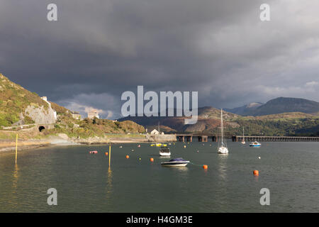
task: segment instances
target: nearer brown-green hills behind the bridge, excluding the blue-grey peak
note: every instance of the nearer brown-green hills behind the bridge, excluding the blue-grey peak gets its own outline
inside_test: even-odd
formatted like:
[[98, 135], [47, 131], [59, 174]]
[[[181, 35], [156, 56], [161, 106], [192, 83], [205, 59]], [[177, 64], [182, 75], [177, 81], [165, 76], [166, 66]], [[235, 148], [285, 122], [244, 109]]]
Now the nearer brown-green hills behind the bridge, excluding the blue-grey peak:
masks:
[[[246, 135], [319, 135], [319, 116], [292, 112], [265, 116], [240, 116], [223, 111], [226, 135], [241, 135], [245, 127]], [[128, 117], [122, 120], [136, 121], [148, 131], [158, 128], [166, 133], [210, 132], [219, 133], [220, 110], [213, 107], [198, 109], [198, 121], [194, 125], [184, 125], [184, 117]]]

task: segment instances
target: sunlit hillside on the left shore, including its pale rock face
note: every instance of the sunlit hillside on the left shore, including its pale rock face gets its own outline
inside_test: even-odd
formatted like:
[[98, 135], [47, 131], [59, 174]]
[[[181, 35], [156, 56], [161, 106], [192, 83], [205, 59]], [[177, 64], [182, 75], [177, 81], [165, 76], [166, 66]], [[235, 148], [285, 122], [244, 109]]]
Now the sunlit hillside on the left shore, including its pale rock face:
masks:
[[[29, 92], [18, 84], [11, 82], [0, 74], [0, 127], [28, 125], [25, 128], [35, 127], [36, 124], [50, 124], [39, 132], [21, 133], [22, 138], [29, 139], [36, 136], [65, 133], [69, 138], [104, 137], [106, 133], [144, 133], [145, 128], [133, 121], [111, 121], [107, 119], [78, 120], [72, 118], [71, 111], [51, 101], [45, 101], [34, 92]], [[9, 131], [21, 128], [11, 127]], [[24, 130], [24, 129], [23, 129]], [[2, 138], [9, 137], [7, 131], [1, 131]], [[22, 131], [21, 131], [22, 132]], [[0, 138], [1, 138], [0, 136]]]

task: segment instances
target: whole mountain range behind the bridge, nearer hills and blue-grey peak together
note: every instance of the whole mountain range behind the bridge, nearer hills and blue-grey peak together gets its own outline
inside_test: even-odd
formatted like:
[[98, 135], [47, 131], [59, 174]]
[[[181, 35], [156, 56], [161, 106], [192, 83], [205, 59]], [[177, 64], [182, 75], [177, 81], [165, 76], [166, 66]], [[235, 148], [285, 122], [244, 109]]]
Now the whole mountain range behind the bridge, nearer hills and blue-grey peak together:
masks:
[[[223, 116], [228, 135], [241, 134], [245, 126], [247, 135], [319, 135], [319, 103], [307, 99], [279, 97], [247, 104], [234, 109], [225, 109]], [[211, 106], [198, 108], [198, 121], [184, 125], [186, 117], [136, 117], [128, 116], [118, 121], [135, 121], [152, 131], [160, 124], [161, 131], [212, 132], [218, 133], [220, 109]]]

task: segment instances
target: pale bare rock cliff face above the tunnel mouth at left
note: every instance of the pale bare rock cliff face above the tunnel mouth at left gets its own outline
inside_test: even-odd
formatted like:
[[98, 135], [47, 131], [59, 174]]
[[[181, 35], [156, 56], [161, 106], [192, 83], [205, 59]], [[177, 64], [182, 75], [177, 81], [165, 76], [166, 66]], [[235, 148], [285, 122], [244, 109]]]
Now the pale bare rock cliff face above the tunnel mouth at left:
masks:
[[32, 118], [35, 123], [50, 124], [55, 123], [57, 120], [55, 117], [55, 111], [51, 108], [51, 106], [48, 106], [46, 109], [44, 106], [27, 106], [25, 115]]

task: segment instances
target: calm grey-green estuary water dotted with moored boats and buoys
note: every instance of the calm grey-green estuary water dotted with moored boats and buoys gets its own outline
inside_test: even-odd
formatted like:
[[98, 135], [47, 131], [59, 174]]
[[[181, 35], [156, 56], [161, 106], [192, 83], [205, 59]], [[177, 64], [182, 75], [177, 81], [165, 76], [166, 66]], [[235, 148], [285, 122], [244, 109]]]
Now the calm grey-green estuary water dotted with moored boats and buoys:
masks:
[[[172, 158], [194, 163], [186, 167], [162, 167], [169, 158], [140, 145], [112, 145], [110, 168], [106, 145], [21, 151], [18, 165], [14, 152], [2, 153], [0, 211], [319, 212], [319, 143], [228, 142], [228, 155], [218, 155], [216, 143], [172, 143]], [[47, 204], [50, 188], [57, 189], [57, 206]], [[269, 206], [260, 204], [262, 188], [269, 189]]]

